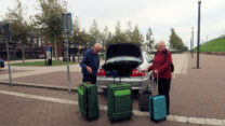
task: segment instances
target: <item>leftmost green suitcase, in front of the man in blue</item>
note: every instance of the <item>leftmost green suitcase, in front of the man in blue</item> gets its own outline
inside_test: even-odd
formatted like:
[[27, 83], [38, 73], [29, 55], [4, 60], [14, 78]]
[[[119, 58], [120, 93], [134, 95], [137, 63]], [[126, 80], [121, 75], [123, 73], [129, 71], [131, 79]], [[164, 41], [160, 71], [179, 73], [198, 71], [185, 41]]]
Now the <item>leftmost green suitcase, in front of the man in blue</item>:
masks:
[[78, 101], [80, 112], [88, 121], [98, 118], [100, 109], [96, 85], [89, 82], [80, 84], [78, 87]]

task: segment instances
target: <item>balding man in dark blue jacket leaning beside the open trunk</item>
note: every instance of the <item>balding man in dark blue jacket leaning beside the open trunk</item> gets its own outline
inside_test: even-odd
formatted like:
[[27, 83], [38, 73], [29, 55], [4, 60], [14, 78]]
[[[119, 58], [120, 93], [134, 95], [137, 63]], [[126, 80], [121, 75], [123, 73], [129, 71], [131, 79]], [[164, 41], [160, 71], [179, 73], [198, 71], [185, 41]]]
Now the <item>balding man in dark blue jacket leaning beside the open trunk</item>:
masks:
[[96, 84], [97, 69], [100, 67], [98, 52], [102, 50], [102, 44], [96, 43], [92, 48], [87, 50], [83, 54], [83, 59], [80, 62], [83, 82]]

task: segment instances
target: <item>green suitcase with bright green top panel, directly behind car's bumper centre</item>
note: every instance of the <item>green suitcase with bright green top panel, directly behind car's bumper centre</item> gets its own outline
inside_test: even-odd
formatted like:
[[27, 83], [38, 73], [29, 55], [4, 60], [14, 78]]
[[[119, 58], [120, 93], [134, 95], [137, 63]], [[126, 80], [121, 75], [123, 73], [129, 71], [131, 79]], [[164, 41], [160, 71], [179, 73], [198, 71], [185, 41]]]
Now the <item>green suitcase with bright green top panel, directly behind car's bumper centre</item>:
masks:
[[132, 92], [131, 85], [127, 83], [110, 84], [107, 86], [108, 118], [131, 118], [132, 116]]

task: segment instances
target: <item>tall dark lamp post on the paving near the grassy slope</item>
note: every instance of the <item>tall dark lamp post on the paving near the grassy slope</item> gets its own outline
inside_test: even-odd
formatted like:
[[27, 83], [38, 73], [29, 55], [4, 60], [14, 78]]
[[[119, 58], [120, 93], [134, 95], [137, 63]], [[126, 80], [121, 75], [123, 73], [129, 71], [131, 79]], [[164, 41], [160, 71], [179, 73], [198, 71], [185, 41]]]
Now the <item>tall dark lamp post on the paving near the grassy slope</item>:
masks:
[[199, 69], [199, 43], [200, 43], [200, 17], [201, 0], [198, 1], [198, 45], [197, 45], [197, 69]]

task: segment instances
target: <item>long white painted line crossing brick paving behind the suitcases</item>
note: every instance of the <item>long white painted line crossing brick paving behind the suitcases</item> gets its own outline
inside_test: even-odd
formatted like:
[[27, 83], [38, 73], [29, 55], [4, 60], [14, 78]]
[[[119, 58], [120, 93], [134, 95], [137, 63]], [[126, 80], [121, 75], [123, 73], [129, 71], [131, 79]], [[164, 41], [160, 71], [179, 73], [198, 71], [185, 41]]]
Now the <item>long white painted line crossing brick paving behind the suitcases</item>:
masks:
[[[30, 94], [23, 94], [23, 93], [16, 93], [16, 92], [8, 92], [8, 90], [0, 90], [0, 94], [64, 103], [64, 104], [78, 106], [78, 101], [65, 100], [65, 99], [58, 99], [58, 98], [52, 98], [52, 97], [45, 97], [45, 96], [38, 96], [38, 95], [30, 95]], [[107, 106], [100, 104], [100, 109], [107, 111]], [[141, 112], [138, 110], [133, 110], [133, 114], [137, 116], [149, 116], [148, 112]], [[225, 120], [216, 120], [216, 118], [169, 115], [167, 116], [167, 121], [178, 122], [178, 123], [201, 124], [201, 125], [225, 126]]]

